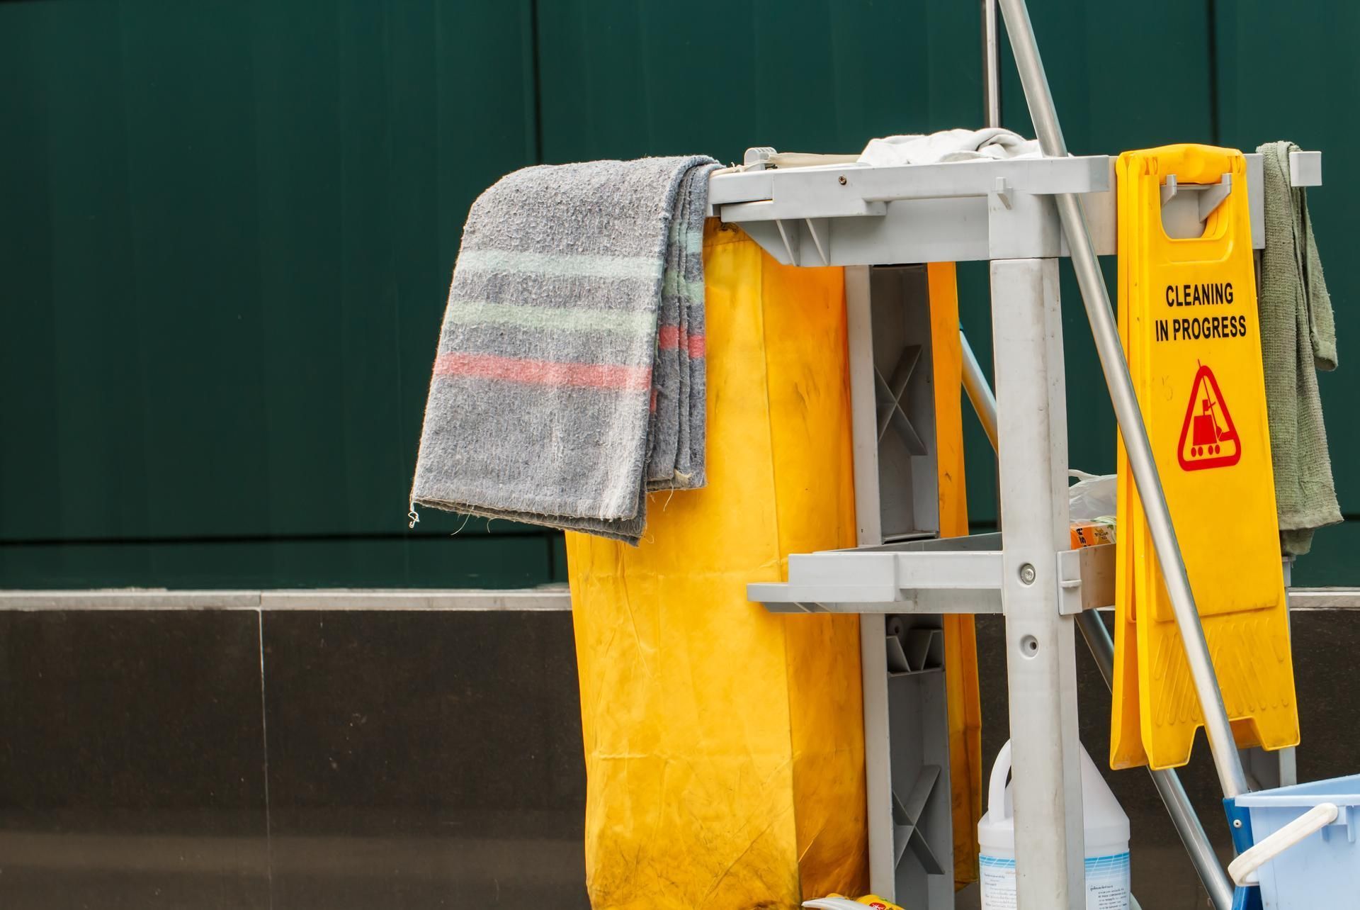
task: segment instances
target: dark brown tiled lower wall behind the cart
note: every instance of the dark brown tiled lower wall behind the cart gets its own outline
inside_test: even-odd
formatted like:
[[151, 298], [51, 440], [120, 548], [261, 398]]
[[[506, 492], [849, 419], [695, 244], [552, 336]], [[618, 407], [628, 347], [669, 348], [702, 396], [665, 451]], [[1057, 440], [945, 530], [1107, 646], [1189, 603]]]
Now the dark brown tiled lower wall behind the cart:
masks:
[[[1360, 615], [1293, 622], [1300, 775], [1352, 771]], [[1000, 620], [979, 653], [990, 759]], [[1108, 695], [1078, 673], [1100, 763]], [[5, 910], [588, 906], [564, 612], [0, 612], [0, 729]], [[1144, 906], [1202, 907], [1146, 774], [1108, 779]], [[1227, 849], [1202, 748], [1185, 781]]]

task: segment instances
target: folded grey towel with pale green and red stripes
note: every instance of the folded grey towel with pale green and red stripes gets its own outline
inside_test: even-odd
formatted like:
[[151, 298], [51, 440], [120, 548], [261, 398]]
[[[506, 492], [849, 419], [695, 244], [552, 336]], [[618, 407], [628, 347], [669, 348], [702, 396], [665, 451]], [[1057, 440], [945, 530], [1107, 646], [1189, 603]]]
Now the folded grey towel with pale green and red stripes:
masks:
[[638, 543], [703, 486], [711, 158], [528, 167], [472, 205], [426, 400], [416, 506]]

